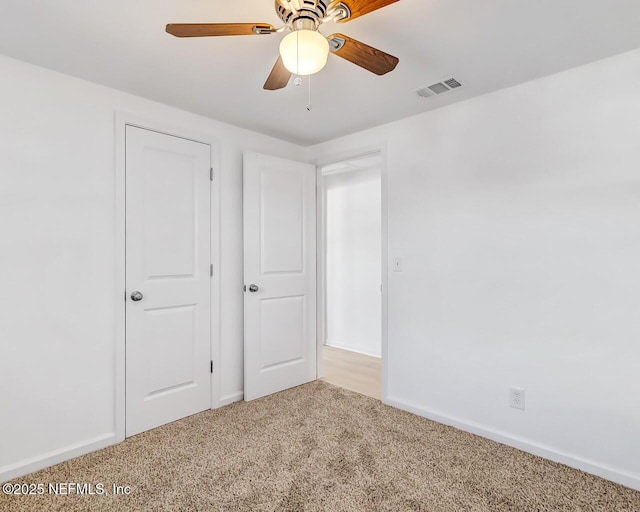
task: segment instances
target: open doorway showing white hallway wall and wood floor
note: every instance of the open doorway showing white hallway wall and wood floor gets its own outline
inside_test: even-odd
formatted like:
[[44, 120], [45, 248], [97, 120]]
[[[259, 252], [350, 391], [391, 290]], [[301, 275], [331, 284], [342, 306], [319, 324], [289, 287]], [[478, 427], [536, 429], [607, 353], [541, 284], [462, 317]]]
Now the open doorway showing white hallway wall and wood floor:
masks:
[[382, 157], [319, 169], [321, 379], [381, 398]]

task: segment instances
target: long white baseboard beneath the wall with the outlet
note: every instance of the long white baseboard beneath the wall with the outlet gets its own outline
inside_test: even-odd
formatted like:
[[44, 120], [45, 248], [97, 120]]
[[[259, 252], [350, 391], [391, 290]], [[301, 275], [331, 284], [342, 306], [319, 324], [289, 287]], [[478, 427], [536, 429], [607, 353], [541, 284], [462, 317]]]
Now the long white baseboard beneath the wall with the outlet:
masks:
[[445, 425], [455, 427], [459, 430], [464, 430], [465, 432], [470, 432], [471, 434], [476, 434], [478, 436], [491, 439], [492, 441], [517, 448], [518, 450], [522, 450], [524, 452], [528, 452], [533, 455], [537, 455], [539, 457], [543, 457], [545, 459], [549, 459], [554, 462], [579, 469], [581, 471], [584, 471], [585, 473], [591, 473], [592, 475], [599, 476], [601, 478], [604, 478], [605, 480], [611, 480], [612, 482], [630, 487], [631, 489], [635, 489], [636, 491], [640, 491], [640, 475], [634, 475], [632, 473], [627, 473], [625, 471], [621, 471], [599, 464], [597, 462], [576, 457], [568, 453], [563, 453], [554, 448], [530, 441], [528, 439], [522, 439], [506, 432], [501, 432], [499, 430], [486, 427], [479, 423], [467, 421], [462, 418], [449, 416], [438, 411], [416, 406], [397, 398], [390, 397], [385, 401], [385, 403], [392, 407], [411, 412], [413, 414], [436, 421], [438, 423], [443, 423]]

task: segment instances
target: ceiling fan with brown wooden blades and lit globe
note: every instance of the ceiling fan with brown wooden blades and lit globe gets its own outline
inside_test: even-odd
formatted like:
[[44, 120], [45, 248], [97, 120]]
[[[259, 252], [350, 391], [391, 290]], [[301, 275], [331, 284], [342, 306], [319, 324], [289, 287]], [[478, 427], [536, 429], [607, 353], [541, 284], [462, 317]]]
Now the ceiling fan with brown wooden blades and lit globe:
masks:
[[269, 23], [170, 23], [167, 32], [176, 37], [251, 36], [289, 31], [280, 42], [278, 58], [264, 88], [282, 89], [292, 74], [312, 75], [324, 68], [329, 53], [384, 75], [393, 71], [398, 59], [344, 34], [323, 36], [318, 28], [334, 21], [346, 23], [386, 7], [398, 0], [275, 0], [284, 26]]

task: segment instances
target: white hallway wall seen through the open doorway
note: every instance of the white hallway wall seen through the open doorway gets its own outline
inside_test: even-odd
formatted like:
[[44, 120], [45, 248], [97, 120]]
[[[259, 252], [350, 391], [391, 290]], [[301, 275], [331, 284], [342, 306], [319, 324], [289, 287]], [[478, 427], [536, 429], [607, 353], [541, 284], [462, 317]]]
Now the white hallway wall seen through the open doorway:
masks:
[[380, 168], [328, 174], [326, 344], [380, 357]]

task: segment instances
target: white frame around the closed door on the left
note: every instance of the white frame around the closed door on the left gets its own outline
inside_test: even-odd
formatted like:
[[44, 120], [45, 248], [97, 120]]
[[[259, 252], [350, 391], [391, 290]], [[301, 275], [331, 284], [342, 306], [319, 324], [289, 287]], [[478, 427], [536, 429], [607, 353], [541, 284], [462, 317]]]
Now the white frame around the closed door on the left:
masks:
[[116, 442], [125, 439], [125, 363], [126, 363], [126, 302], [125, 302], [125, 270], [126, 270], [126, 126], [135, 126], [182, 139], [208, 144], [211, 148], [211, 359], [214, 368], [211, 378], [211, 408], [220, 406], [220, 148], [219, 143], [210, 135], [194, 133], [189, 128], [167, 124], [163, 121], [147, 119], [130, 112], [115, 112], [115, 247], [116, 247], [116, 281], [114, 297], [116, 304], [115, 332], [115, 418], [114, 426]]

